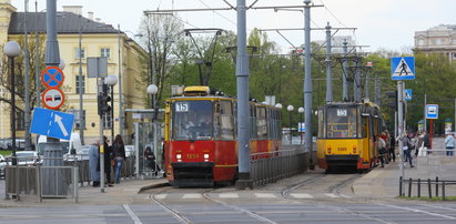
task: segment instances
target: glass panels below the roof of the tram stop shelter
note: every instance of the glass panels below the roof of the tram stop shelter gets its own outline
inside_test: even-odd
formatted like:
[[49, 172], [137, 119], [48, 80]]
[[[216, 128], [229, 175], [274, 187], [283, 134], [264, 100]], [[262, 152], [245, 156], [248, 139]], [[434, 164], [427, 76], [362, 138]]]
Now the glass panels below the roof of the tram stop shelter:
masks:
[[[135, 122], [134, 123], [134, 152], [136, 157], [136, 176], [156, 176], [156, 170], [163, 167], [163, 135], [162, 125], [158, 122]], [[155, 155], [155, 163], [145, 160], [146, 150], [150, 149]]]

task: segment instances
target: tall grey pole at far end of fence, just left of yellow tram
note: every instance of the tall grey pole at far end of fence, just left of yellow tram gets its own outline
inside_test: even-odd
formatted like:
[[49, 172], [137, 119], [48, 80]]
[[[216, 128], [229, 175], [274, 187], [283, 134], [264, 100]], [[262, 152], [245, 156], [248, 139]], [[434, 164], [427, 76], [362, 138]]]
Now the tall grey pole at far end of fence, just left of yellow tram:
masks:
[[311, 75], [311, 0], [304, 0], [304, 113], [305, 134], [304, 149], [311, 153], [311, 169], [313, 169], [312, 152], [312, 75]]

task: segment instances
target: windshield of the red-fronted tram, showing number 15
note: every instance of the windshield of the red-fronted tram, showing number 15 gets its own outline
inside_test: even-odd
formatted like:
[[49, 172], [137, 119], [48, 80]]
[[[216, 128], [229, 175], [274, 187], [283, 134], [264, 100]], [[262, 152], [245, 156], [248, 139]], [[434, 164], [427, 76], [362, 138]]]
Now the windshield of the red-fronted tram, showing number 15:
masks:
[[210, 140], [213, 136], [213, 103], [209, 100], [173, 103], [174, 140]]

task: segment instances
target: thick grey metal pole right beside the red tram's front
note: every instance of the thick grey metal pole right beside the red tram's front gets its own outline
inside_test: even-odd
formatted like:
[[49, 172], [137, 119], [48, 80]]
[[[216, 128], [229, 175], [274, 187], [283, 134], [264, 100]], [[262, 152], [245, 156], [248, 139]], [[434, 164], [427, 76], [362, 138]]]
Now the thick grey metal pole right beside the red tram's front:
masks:
[[249, 133], [249, 60], [246, 52], [246, 7], [245, 0], [237, 0], [237, 151], [239, 151], [239, 180], [236, 189], [253, 189], [250, 162], [250, 133]]

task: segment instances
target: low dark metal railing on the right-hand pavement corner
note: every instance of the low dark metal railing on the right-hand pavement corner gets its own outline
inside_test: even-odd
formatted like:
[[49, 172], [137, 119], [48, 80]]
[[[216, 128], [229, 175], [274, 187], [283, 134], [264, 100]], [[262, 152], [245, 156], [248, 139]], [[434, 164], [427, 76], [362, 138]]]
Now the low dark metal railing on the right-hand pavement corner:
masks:
[[[446, 186], [447, 185], [456, 185], [456, 181], [448, 181], [448, 180], [438, 180], [438, 177], [436, 177], [435, 180], [420, 180], [420, 179], [408, 179], [408, 180], [403, 180], [402, 177], [399, 177], [399, 195], [404, 196], [405, 195], [405, 190], [403, 187], [403, 185], [408, 184], [408, 197], [412, 197], [412, 189], [413, 185], [416, 185], [416, 196], [417, 197], [422, 197], [422, 185], [426, 185], [427, 186], [427, 195], [429, 198], [433, 197], [433, 189], [435, 189], [435, 196], [438, 197], [438, 189], [439, 185], [442, 186], [442, 201], [445, 201], [446, 195]], [[434, 186], [434, 187], [433, 187]]]

